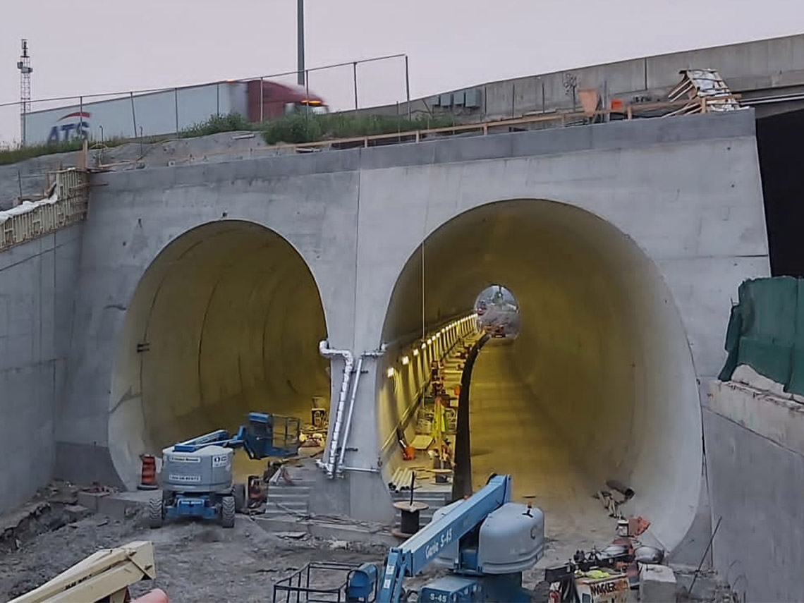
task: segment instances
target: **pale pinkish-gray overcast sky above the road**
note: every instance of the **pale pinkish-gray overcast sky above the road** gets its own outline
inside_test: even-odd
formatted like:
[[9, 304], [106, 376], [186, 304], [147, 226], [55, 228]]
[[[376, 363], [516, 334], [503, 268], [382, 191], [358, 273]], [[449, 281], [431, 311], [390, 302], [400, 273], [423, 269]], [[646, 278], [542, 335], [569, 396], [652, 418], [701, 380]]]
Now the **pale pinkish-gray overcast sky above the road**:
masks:
[[[405, 53], [413, 97], [802, 32], [804, 0], [306, 0], [308, 67]], [[34, 98], [269, 75], [296, 67], [296, 0], [0, 0], [0, 103], [23, 37]], [[361, 104], [404, 100], [403, 65], [361, 68]], [[351, 68], [310, 85], [337, 105]], [[0, 108], [0, 142], [17, 137]]]

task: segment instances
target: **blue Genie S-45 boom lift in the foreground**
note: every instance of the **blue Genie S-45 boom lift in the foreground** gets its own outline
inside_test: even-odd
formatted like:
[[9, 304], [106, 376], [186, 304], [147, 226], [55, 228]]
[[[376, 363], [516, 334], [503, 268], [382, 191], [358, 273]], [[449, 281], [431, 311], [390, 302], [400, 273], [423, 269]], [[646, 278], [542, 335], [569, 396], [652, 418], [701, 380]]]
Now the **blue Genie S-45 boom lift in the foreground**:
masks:
[[[382, 567], [351, 568], [345, 600], [409, 601], [414, 593], [404, 589], [404, 579], [432, 563], [450, 568], [451, 573], [422, 586], [417, 601], [530, 601], [522, 572], [533, 568], [543, 554], [544, 514], [536, 507], [511, 503], [511, 476], [492, 475], [470, 498], [438, 509], [432, 522], [391, 548]], [[301, 586], [304, 573], [309, 578], [309, 569], [302, 568], [277, 581], [273, 600], [311, 600], [311, 594], [326, 592]]]

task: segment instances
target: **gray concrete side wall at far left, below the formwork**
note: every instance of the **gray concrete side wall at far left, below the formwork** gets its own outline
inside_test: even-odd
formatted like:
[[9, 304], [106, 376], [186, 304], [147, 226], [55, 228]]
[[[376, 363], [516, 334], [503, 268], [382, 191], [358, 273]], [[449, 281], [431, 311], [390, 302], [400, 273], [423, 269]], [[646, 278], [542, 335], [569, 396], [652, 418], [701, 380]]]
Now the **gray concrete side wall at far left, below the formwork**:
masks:
[[0, 253], [0, 512], [53, 474], [82, 228]]

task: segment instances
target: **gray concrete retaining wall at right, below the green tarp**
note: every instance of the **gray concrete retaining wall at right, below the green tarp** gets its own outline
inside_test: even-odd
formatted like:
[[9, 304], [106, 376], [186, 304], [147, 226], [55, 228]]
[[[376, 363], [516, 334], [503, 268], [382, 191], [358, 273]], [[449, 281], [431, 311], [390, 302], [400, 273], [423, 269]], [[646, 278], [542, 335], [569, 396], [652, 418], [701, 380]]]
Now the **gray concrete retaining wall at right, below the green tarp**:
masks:
[[704, 438], [714, 567], [740, 600], [804, 601], [804, 407], [713, 382]]

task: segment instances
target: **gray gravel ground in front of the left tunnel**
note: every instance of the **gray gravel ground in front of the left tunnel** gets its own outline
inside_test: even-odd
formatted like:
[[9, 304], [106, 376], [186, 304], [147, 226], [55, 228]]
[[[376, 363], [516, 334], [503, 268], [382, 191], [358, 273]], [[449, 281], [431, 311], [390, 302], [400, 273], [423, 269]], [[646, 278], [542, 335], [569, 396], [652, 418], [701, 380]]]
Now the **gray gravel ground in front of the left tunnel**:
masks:
[[0, 601], [35, 589], [100, 548], [138, 539], [154, 543], [157, 577], [138, 584], [133, 594], [160, 588], [170, 601], [269, 601], [274, 582], [310, 560], [354, 564], [382, 560], [385, 552], [371, 545], [285, 539], [245, 517], [231, 530], [195, 522], [150, 530], [142, 516], [118, 521], [92, 515], [0, 554]]

